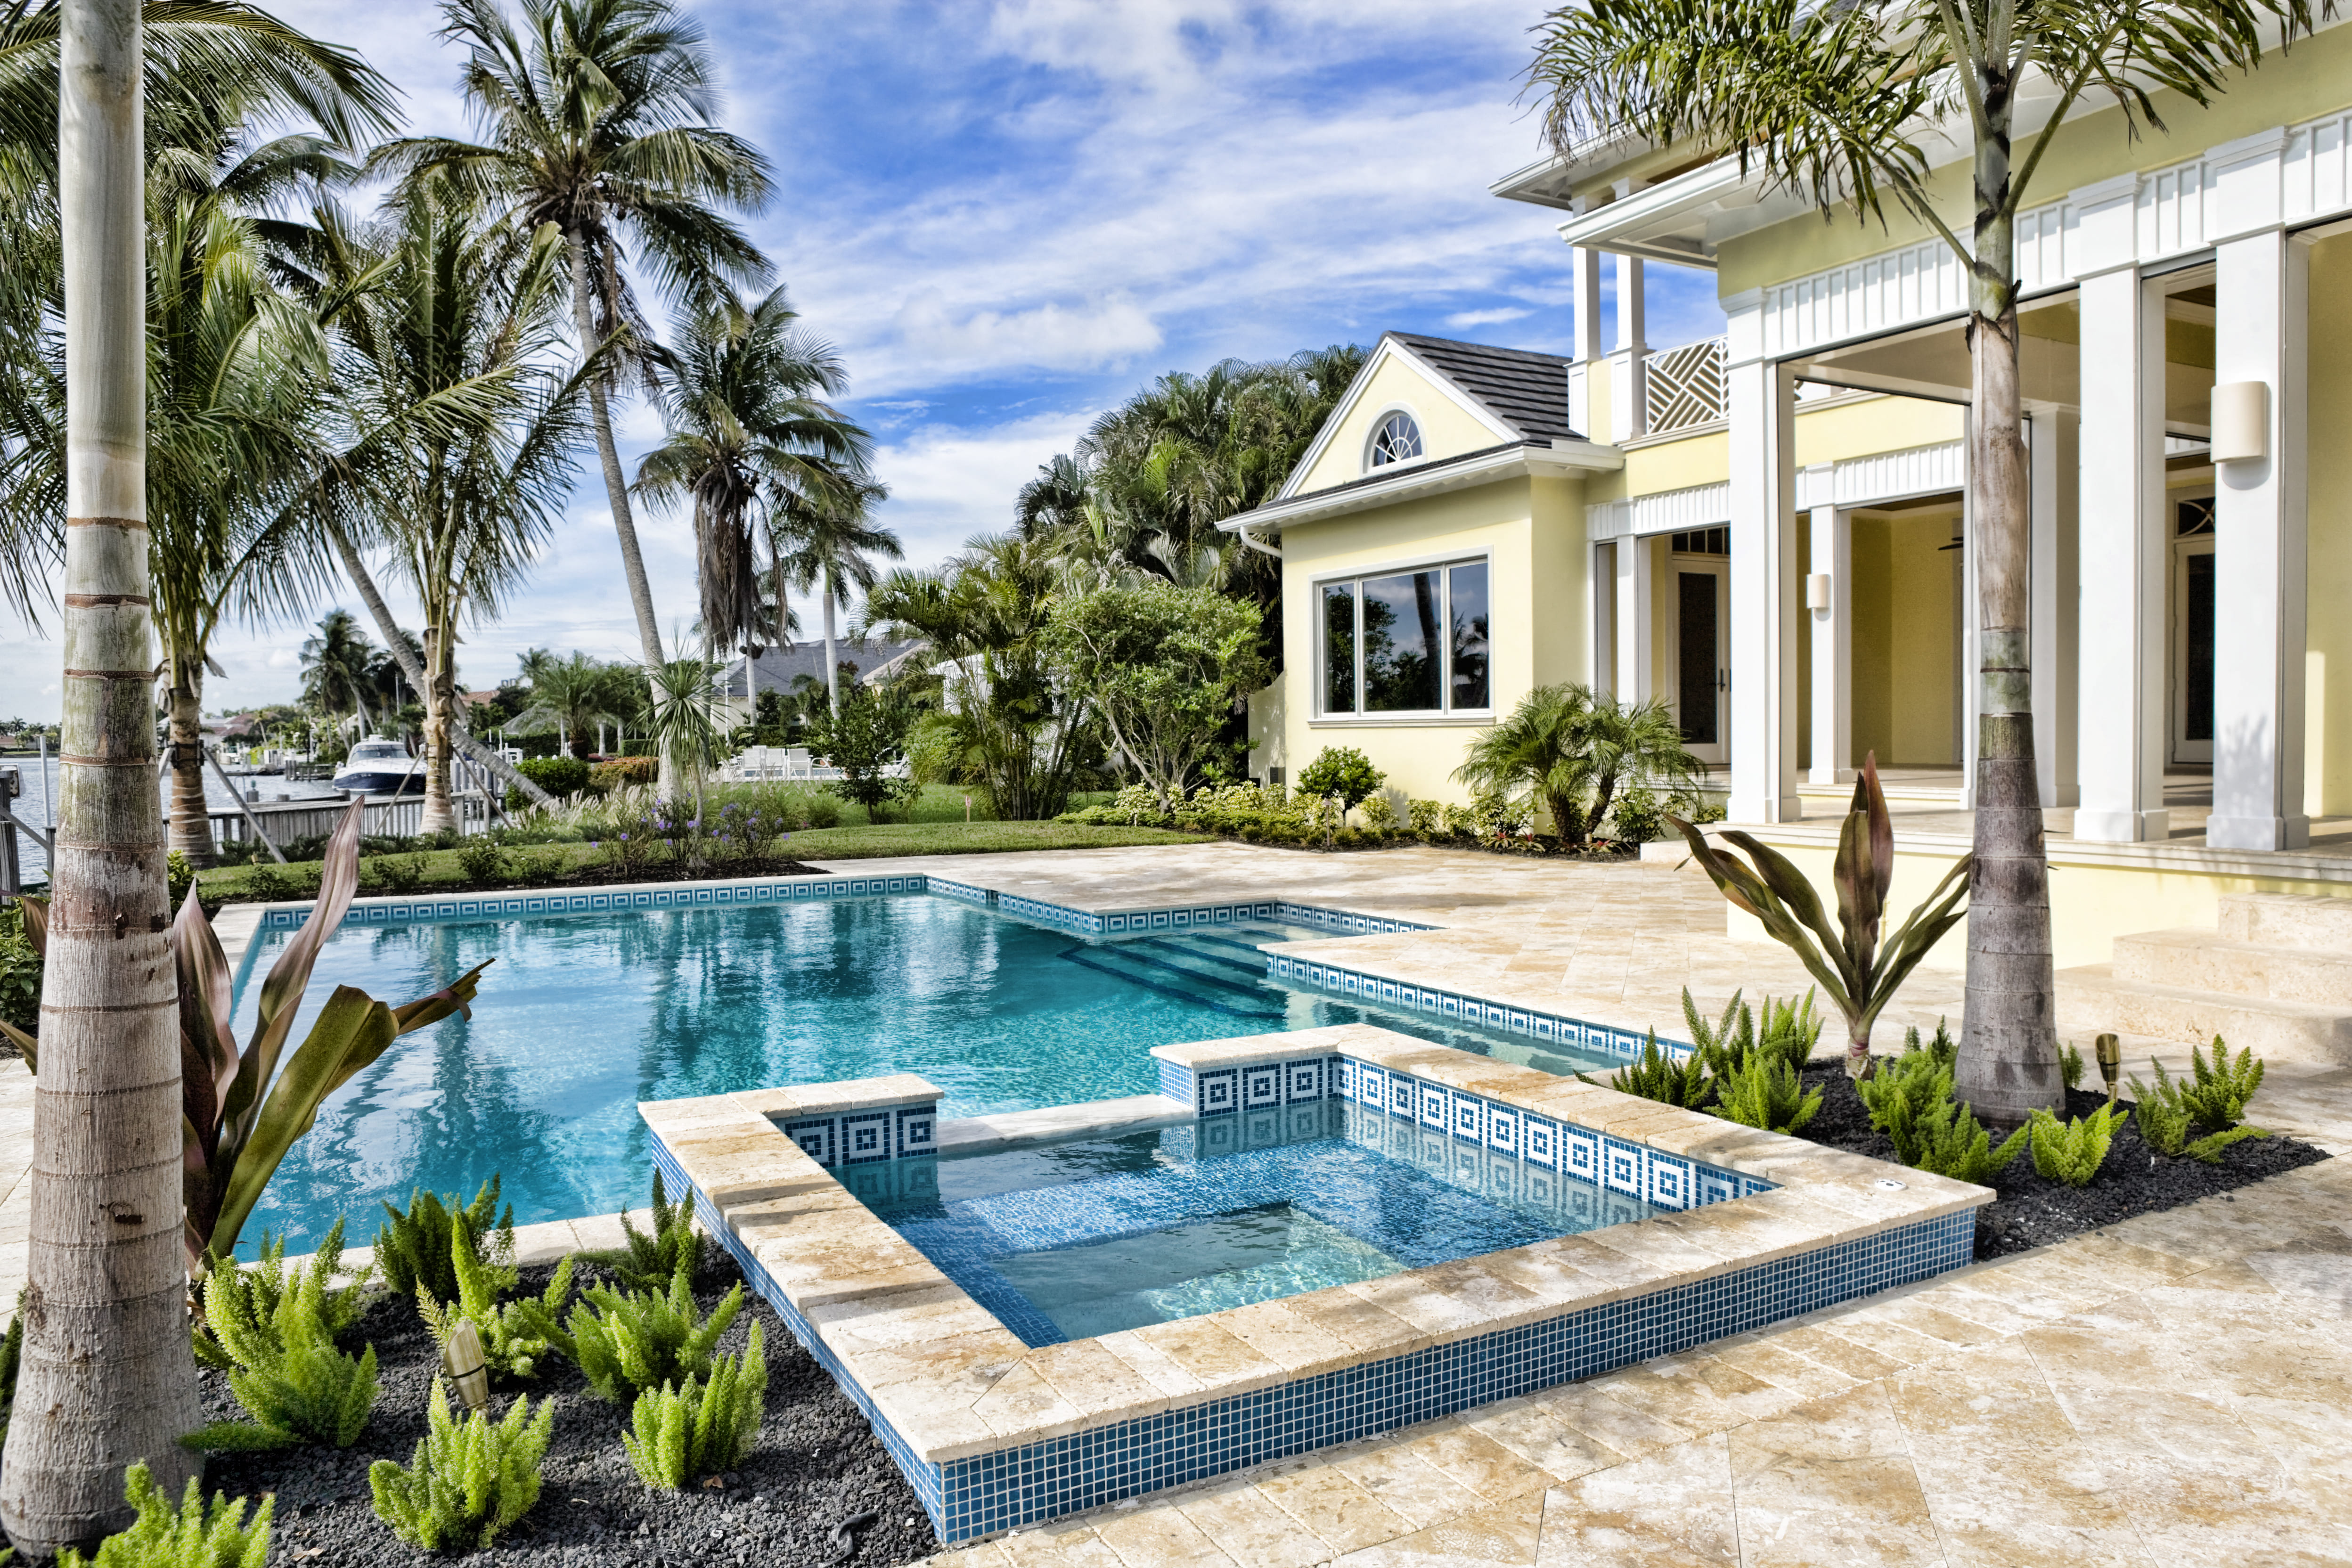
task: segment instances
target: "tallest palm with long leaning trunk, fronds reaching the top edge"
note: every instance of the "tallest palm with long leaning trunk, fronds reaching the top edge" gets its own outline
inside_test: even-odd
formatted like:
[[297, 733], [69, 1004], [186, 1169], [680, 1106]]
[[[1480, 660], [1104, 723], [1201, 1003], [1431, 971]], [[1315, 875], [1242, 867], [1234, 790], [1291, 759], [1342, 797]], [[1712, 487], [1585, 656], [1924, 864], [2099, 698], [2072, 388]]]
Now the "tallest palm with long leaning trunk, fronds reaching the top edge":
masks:
[[[445, 0], [442, 16], [442, 35], [470, 49], [466, 99], [487, 141], [395, 141], [379, 158], [412, 176], [447, 169], [517, 230], [555, 226], [583, 364], [619, 334], [644, 336], [630, 261], [687, 301], [767, 280], [767, 259], [724, 216], [767, 202], [767, 160], [710, 125], [710, 49], [670, 0], [522, 0], [520, 26], [501, 0]], [[661, 625], [612, 435], [616, 371], [612, 355], [597, 367], [588, 416], [644, 668], [659, 672]]]

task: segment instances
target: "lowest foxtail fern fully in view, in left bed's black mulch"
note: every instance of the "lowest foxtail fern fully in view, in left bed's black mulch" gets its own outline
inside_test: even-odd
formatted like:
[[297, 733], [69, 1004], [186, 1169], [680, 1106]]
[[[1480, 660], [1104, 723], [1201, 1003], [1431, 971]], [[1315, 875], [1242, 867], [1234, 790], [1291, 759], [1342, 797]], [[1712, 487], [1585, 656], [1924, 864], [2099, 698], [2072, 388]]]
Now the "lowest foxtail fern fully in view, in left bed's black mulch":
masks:
[[489, 1413], [475, 1410], [459, 1425], [449, 1420], [449, 1389], [435, 1378], [426, 1436], [407, 1467], [393, 1460], [367, 1467], [376, 1519], [426, 1552], [489, 1547], [539, 1502], [539, 1465], [553, 1427], [555, 1401], [541, 1401], [534, 1420], [532, 1401], [520, 1394], [506, 1420], [492, 1425]]

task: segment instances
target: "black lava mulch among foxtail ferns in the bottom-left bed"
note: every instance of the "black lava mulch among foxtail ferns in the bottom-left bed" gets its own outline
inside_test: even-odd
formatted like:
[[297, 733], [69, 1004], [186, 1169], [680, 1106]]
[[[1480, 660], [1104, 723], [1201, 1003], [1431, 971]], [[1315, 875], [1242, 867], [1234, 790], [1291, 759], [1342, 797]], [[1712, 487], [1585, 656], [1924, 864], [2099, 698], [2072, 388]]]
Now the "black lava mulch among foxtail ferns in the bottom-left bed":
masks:
[[[524, 1269], [522, 1291], [546, 1288], [553, 1269]], [[586, 1284], [588, 1269], [579, 1272]], [[717, 1260], [696, 1281], [708, 1309], [739, 1279], [734, 1262]], [[720, 1345], [739, 1354], [750, 1324], [760, 1321], [767, 1345], [767, 1422], [760, 1446], [724, 1490], [656, 1493], [637, 1481], [621, 1453], [628, 1413], [588, 1392], [569, 1361], [555, 1359], [534, 1382], [492, 1389], [492, 1418], [506, 1413], [515, 1392], [539, 1408], [555, 1399], [555, 1434], [548, 1443], [539, 1505], [489, 1552], [466, 1561], [532, 1563], [564, 1568], [731, 1568], [736, 1563], [793, 1563], [797, 1568], [889, 1568], [938, 1552], [931, 1521], [906, 1476], [882, 1450], [873, 1427], [833, 1378], [800, 1347], [767, 1302], [746, 1293], [741, 1316]], [[282, 1453], [214, 1455], [205, 1488], [228, 1495], [278, 1495], [270, 1526], [270, 1563], [435, 1563], [376, 1519], [367, 1467], [374, 1460], [409, 1462], [426, 1434], [426, 1399], [440, 1352], [409, 1300], [379, 1298], [348, 1347], [376, 1347], [381, 1392], [367, 1432], [350, 1448], [289, 1448]], [[242, 1420], [228, 1396], [228, 1380], [202, 1373], [205, 1418]], [[452, 1394], [452, 1413], [463, 1406]], [[830, 1533], [844, 1519], [873, 1514], [873, 1523], [849, 1533], [842, 1552]]]

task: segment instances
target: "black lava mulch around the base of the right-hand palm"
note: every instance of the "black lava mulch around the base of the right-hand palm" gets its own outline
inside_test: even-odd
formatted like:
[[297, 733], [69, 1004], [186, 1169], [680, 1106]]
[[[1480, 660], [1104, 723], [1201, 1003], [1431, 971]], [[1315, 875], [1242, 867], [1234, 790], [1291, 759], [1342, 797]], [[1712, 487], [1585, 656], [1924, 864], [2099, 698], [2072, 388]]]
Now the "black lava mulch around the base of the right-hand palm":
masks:
[[[1896, 1145], [1870, 1126], [1870, 1110], [1842, 1063], [1806, 1067], [1804, 1084], [1823, 1088], [1823, 1095], [1820, 1110], [1804, 1124], [1799, 1138], [1893, 1161]], [[2070, 1088], [2065, 1110], [2067, 1117], [2089, 1117], [2105, 1103], [2105, 1091]], [[2272, 1133], [2232, 1143], [2223, 1150], [2220, 1164], [2209, 1166], [2187, 1154], [2157, 1154], [2140, 1143], [2140, 1128], [2126, 1117], [2117, 1124], [2107, 1161], [2089, 1187], [2042, 1180], [2032, 1152], [2020, 1150], [2009, 1168], [1992, 1178], [1992, 1190], [2002, 1197], [1976, 1211], [1976, 1255], [2006, 1258], [2049, 1246], [2136, 1213], [2194, 1204], [2326, 1157], [2326, 1150]]]

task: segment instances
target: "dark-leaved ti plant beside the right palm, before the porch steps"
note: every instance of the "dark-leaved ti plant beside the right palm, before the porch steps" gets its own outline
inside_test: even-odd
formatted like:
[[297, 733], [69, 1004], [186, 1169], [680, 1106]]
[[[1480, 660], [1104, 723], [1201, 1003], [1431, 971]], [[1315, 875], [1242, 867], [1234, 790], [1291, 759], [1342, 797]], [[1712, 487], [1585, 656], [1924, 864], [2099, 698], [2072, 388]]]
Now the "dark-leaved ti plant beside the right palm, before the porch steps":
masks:
[[1893, 1001], [1896, 990], [1919, 966], [1919, 959], [1959, 924], [1962, 898], [1969, 896], [1973, 856], [1964, 856], [1936, 891], [1889, 936], [1879, 940], [1886, 919], [1886, 891], [1896, 879], [1896, 832], [1886, 816], [1886, 792], [1879, 790], [1877, 755], [1863, 759], [1853, 780], [1853, 806], [1837, 835], [1837, 924], [1820, 907], [1820, 896], [1804, 872], [1769, 844], [1748, 832], [1726, 832], [1724, 842], [1748, 851], [1750, 870], [1708, 844], [1693, 823], [1668, 818], [1691, 844], [1691, 856], [1736, 907], [1764, 922], [1773, 940], [1788, 945], [1813, 973], [1846, 1018], [1846, 1074], [1870, 1074], [1870, 1027]]

